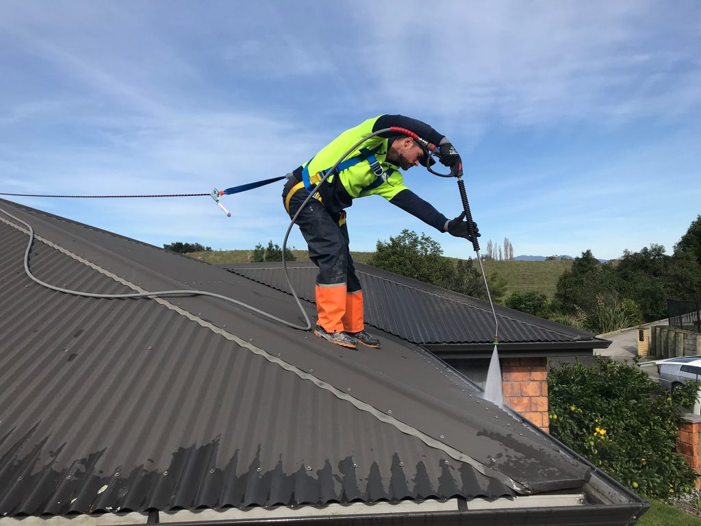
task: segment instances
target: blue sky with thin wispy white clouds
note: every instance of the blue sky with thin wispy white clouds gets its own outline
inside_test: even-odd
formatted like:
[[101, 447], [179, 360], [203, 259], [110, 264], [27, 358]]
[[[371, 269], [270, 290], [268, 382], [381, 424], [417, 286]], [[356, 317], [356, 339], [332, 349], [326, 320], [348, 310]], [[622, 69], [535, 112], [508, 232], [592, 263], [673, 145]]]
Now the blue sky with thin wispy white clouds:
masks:
[[[379, 114], [430, 123], [463, 156], [482, 246], [602, 258], [701, 212], [697, 1], [5, 0], [0, 191], [208, 192], [277, 175]], [[454, 180], [411, 189], [448, 217]], [[154, 245], [282, 243], [282, 183], [209, 197], [12, 198]], [[408, 228], [470, 245], [373, 196], [351, 250]], [[297, 229], [290, 245], [305, 248]]]

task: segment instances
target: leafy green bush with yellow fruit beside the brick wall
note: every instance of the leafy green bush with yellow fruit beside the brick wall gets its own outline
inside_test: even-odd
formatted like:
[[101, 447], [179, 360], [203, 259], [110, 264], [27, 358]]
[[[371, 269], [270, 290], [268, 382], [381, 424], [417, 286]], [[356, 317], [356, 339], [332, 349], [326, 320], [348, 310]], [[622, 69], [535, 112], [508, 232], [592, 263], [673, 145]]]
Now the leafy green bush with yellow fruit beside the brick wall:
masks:
[[663, 390], [637, 367], [597, 357], [564, 364], [547, 379], [550, 431], [620, 483], [646, 497], [689, 492], [696, 477], [676, 453], [679, 406], [699, 382]]

